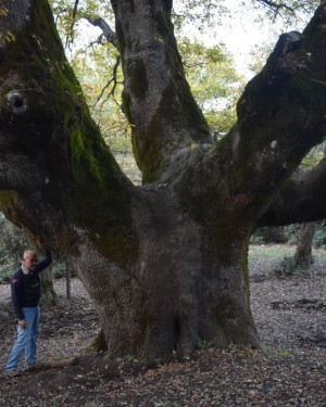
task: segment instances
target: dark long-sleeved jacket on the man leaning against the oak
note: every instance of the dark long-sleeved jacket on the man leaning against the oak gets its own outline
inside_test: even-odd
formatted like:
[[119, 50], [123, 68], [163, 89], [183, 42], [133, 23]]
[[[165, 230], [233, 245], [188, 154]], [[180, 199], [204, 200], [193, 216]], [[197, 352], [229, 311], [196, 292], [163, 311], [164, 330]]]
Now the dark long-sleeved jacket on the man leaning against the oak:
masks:
[[39, 272], [52, 263], [50, 251], [46, 251], [46, 258], [40, 262], [32, 275], [25, 275], [20, 267], [10, 280], [11, 303], [18, 320], [24, 319], [23, 307], [36, 307], [40, 298]]

